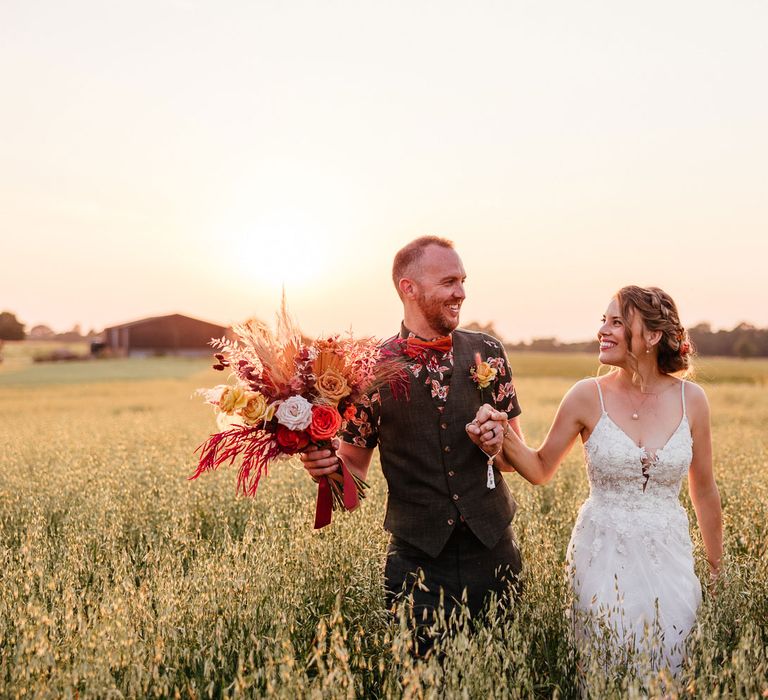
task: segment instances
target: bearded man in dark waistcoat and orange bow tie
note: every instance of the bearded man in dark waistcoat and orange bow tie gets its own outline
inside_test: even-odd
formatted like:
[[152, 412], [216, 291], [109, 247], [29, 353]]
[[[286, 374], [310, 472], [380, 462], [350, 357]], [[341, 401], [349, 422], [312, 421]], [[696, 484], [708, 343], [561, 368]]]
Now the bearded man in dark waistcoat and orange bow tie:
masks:
[[[485, 454], [501, 448], [502, 426], [486, 421], [467, 430], [489, 403], [520, 434], [520, 407], [501, 343], [457, 330], [465, 278], [443, 238], [423, 236], [397, 253], [392, 279], [403, 323], [385, 345], [406, 355], [408, 396], [395, 398], [385, 387], [367, 397], [337, 449], [364, 479], [379, 448], [389, 492], [387, 604], [412, 593], [413, 617], [423, 626], [434, 620], [441, 596], [446, 616], [463, 596], [474, 616], [492, 593], [508, 595], [521, 570], [511, 526], [515, 501], [496, 468], [489, 473]], [[302, 461], [312, 476], [339, 466], [329, 450], [308, 452]], [[429, 646], [423, 636], [419, 646], [420, 653]]]

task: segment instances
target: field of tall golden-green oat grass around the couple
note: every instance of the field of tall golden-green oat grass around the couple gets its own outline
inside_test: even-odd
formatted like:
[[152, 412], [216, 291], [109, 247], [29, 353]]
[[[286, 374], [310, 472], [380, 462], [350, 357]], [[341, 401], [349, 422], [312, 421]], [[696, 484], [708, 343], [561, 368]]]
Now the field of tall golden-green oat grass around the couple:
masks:
[[[519, 502], [525, 595], [513, 619], [454, 634], [415, 663], [383, 610], [386, 488], [312, 530], [314, 488], [275, 466], [255, 500], [231, 470], [186, 476], [213, 429], [192, 392], [221, 381], [173, 358], [0, 366], [0, 697], [573, 697], [565, 546], [587, 493], [574, 449]], [[512, 358], [531, 442], [593, 357]], [[712, 404], [726, 567], [705, 595], [681, 697], [768, 693], [768, 362], [701, 362]], [[687, 495], [684, 503], [695, 523]], [[697, 570], [700, 538], [692, 528]], [[637, 695], [631, 673], [584, 683]], [[661, 693], [657, 681], [651, 695]]]

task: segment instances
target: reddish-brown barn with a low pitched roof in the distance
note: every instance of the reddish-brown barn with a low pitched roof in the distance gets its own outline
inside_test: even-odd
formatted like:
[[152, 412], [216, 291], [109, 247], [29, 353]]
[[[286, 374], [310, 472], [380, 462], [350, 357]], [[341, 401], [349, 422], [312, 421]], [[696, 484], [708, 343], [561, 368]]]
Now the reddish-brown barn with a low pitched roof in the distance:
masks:
[[103, 348], [118, 357], [151, 355], [207, 355], [211, 338], [221, 338], [229, 329], [183, 314], [153, 316], [104, 329]]

